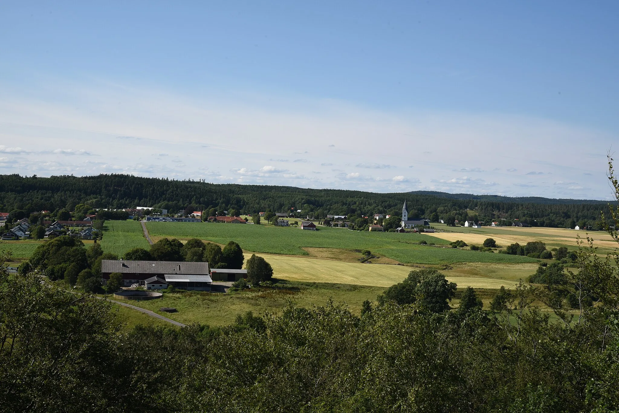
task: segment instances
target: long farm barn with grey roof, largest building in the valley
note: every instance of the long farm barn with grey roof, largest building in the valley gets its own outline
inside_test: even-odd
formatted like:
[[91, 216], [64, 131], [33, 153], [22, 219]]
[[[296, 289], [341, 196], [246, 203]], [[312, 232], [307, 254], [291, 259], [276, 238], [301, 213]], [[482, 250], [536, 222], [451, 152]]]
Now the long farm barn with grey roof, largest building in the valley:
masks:
[[[103, 259], [101, 261], [101, 272], [102, 278], [105, 281], [110, 279], [112, 272], [120, 272], [123, 274], [123, 284], [125, 286], [132, 284], [144, 285], [145, 280], [152, 277], [160, 277], [175, 286], [178, 284], [179, 288], [181, 288], [180, 285], [184, 285], [183, 283], [208, 283], [211, 281], [208, 263], [186, 263], [184, 261]], [[206, 285], [201, 285], [201, 287], [206, 287]], [[183, 286], [182, 288], [187, 287]]]

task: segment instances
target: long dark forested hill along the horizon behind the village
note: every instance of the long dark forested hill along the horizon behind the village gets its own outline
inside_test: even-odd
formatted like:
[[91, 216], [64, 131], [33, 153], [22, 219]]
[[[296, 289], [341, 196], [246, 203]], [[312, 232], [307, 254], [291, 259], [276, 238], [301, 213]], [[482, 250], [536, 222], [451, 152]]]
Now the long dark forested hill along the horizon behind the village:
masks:
[[[150, 206], [176, 212], [209, 208], [236, 209], [241, 213], [271, 209], [297, 211], [322, 218], [327, 214], [399, 214], [407, 201], [410, 217], [467, 219], [470, 211], [480, 220], [520, 219], [532, 225], [563, 227], [569, 222], [594, 225], [605, 201], [547, 198], [507, 198], [490, 195], [369, 193], [342, 189], [306, 189], [293, 186], [212, 184], [130, 175], [37, 176], [0, 175], [0, 210], [27, 213], [58, 209], [72, 211], [78, 204], [93, 208]], [[467, 212], [469, 210], [469, 212]]]

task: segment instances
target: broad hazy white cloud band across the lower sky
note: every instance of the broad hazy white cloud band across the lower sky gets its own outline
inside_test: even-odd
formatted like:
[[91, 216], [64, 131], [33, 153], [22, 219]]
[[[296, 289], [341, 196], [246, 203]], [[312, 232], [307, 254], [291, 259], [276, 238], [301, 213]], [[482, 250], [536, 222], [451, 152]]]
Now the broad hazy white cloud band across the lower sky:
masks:
[[[3, 95], [0, 141], [5, 145], [0, 153], [11, 154], [10, 161], [0, 164], [4, 173], [123, 172], [222, 183], [242, 179], [291, 185], [290, 180], [295, 180], [294, 185], [303, 187], [372, 191], [426, 188], [509, 196], [610, 196], [604, 159], [595, 152], [610, 147], [614, 136], [572, 124], [495, 113], [387, 112], [334, 100], [272, 95], [232, 101], [226, 96], [175, 95], [155, 87], [138, 89], [111, 82], [43, 86], [33, 84], [29, 93], [19, 96]], [[30, 95], [33, 98], [23, 98]], [[413, 167], [410, 151], [386, 150], [376, 142], [427, 147], [427, 136], [440, 142], [440, 149], [422, 149], [423, 156], [414, 159], [415, 180], [399, 180]], [[478, 148], [495, 147], [496, 136], [536, 151], [521, 156], [497, 150], [480, 156]], [[337, 147], [332, 144], [335, 139]], [[19, 147], [6, 142], [19, 142]], [[462, 146], [461, 142], [475, 144]], [[65, 149], [80, 147], [88, 149]], [[321, 147], [329, 150], [314, 149]], [[308, 154], [308, 149], [313, 149], [311, 161], [297, 159], [295, 154]], [[574, 166], [574, 152], [595, 156], [582, 157]], [[85, 163], [84, 159], [102, 162]], [[297, 161], [288, 164], [295, 165], [294, 171], [273, 166], [290, 159]], [[331, 168], [320, 174], [314, 171], [317, 164], [332, 167], [347, 162], [373, 170], [374, 176]], [[477, 167], [456, 166], [464, 162], [475, 162]], [[201, 169], [205, 166], [210, 170]], [[235, 167], [233, 173], [214, 172], [231, 167]], [[454, 170], [466, 176], [454, 177]], [[533, 174], [513, 173], [517, 171], [560, 176], [563, 183], [531, 183]]]

